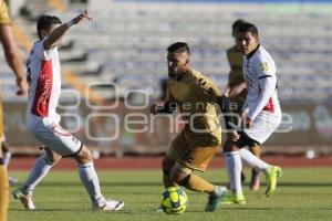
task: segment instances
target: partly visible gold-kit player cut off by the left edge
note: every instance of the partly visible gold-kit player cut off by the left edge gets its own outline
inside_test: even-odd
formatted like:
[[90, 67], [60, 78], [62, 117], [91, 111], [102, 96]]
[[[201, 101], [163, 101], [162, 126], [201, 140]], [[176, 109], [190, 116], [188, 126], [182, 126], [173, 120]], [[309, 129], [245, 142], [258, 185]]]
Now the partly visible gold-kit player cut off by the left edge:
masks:
[[[8, 7], [3, 0], [0, 0], [0, 42], [4, 51], [4, 57], [13, 74], [17, 77], [17, 95], [27, 94], [27, 82], [23, 77], [22, 60], [19, 49], [15, 44], [12, 29], [11, 20], [8, 12]], [[1, 99], [1, 97], [0, 97]], [[0, 145], [4, 141], [3, 134], [3, 113], [2, 103], [0, 101]], [[8, 173], [7, 167], [3, 162], [2, 149], [0, 150], [0, 220], [7, 220], [7, 209], [8, 209]]]

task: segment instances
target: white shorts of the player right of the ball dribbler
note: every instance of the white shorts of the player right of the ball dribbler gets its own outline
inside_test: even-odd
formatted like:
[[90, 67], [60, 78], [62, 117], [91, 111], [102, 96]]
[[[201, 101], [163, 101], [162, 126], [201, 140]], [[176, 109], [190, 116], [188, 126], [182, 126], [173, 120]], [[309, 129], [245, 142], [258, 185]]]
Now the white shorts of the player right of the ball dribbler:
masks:
[[243, 131], [251, 138], [263, 144], [281, 123], [281, 110], [276, 109], [274, 113], [262, 110], [255, 118], [250, 128], [245, 128]]

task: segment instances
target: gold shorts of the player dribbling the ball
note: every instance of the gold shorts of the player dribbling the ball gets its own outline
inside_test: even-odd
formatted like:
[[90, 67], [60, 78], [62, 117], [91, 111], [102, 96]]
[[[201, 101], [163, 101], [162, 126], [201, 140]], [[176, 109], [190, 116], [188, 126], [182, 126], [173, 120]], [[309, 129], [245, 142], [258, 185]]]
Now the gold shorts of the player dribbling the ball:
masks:
[[183, 130], [172, 143], [167, 157], [193, 169], [205, 171], [215, 154], [219, 150], [220, 137], [210, 134], [190, 136]]

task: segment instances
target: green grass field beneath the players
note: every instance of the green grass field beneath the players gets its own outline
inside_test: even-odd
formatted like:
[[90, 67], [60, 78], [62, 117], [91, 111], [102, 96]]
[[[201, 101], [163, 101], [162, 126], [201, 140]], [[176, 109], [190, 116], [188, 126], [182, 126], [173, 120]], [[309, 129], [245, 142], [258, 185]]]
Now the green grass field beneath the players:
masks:
[[[27, 171], [14, 171], [11, 175], [23, 180]], [[98, 175], [104, 196], [124, 200], [124, 210], [114, 213], [91, 211], [87, 194], [76, 171], [54, 170], [34, 191], [37, 210], [25, 211], [20, 202], [11, 199], [9, 220], [332, 220], [332, 168], [286, 168], [276, 196], [266, 198], [264, 187], [258, 192], [250, 192], [248, 186], [245, 186], [247, 204], [222, 207], [212, 213], [204, 212], [207, 200], [204, 193], [187, 190], [189, 206], [180, 215], [154, 211], [159, 206], [163, 191], [159, 170], [102, 170]], [[216, 183], [225, 185], [226, 181], [224, 169], [208, 170], [204, 177]]]

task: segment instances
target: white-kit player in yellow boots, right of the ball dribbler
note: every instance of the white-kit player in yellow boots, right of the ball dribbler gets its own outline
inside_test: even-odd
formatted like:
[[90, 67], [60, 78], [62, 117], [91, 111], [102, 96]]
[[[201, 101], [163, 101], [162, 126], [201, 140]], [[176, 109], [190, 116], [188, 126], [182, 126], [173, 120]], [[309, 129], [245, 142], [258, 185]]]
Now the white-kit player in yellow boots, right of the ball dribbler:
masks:
[[[237, 141], [227, 140], [227, 171], [232, 187], [222, 204], [246, 203], [241, 189], [242, 161], [266, 173], [266, 196], [274, 193], [281, 168], [257, 158], [243, 147], [262, 145], [281, 123], [281, 109], [277, 94], [277, 71], [271, 55], [259, 43], [258, 30], [251, 23], [241, 24], [236, 31], [236, 43], [243, 54], [243, 75], [248, 95], [242, 107], [242, 127]], [[241, 161], [242, 160], [242, 161]]]

